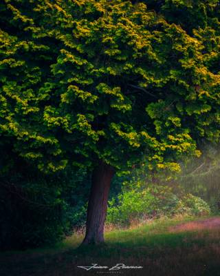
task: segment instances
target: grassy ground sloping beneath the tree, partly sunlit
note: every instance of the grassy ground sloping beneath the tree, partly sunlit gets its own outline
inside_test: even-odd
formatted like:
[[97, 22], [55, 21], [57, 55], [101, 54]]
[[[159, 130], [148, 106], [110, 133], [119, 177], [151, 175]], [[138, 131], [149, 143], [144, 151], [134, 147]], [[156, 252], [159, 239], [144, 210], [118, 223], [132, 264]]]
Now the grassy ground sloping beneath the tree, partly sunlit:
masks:
[[[215, 223], [213, 222], [215, 221]], [[218, 224], [219, 221], [219, 224]], [[81, 246], [73, 235], [53, 248], [0, 254], [1, 276], [217, 276], [220, 275], [220, 218], [159, 219], [130, 230], [111, 230], [106, 244]], [[91, 269], [115, 264], [139, 269]]]

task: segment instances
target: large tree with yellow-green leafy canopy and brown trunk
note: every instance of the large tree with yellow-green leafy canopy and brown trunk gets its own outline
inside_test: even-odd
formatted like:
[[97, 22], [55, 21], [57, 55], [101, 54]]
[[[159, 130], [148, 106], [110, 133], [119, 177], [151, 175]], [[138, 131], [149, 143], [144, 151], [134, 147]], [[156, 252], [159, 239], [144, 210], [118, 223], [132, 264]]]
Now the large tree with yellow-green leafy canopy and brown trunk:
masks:
[[[219, 139], [218, 3], [155, 2], [0, 3], [1, 174], [15, 157], [45, 173], [86, 166], [85, 244], [104, 240], [115, 172], [178, 170]], [[201, 26], [182, 17], [193, 5]]]

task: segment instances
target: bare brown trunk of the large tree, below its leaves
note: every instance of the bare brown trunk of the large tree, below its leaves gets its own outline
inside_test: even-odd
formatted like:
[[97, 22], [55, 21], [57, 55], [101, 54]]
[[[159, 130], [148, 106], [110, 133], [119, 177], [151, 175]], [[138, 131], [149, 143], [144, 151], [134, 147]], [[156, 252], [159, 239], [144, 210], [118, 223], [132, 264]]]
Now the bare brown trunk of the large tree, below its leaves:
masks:
[[107, 214], [107, 201], [113, 175], [113, 167], [102, 161], [94, 169], [91, 179], [91, 192], [87, 208], [87, 227], [83, 244], [99, 244], [104, 242], [104, 221]]

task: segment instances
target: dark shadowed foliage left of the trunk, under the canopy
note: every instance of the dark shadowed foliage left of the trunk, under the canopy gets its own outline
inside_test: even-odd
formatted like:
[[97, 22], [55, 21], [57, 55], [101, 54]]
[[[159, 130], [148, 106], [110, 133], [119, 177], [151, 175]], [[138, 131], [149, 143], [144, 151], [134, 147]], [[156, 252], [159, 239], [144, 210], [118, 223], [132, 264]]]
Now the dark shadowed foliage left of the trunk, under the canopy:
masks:
[[[54, 244], [85, 224], [87, 173], [45, 176], [28, 168], [0, 180], [0, 248], [25, 249]], [[83, 190], [83, 191], [82, 191]]]

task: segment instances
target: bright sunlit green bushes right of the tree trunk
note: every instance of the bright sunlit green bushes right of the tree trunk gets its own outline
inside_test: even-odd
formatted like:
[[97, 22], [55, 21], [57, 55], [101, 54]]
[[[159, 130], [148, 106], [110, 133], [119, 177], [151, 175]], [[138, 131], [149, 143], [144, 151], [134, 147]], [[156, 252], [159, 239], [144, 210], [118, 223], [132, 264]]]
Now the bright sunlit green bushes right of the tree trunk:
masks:
[[[209, 215], [210, 207], [200, 197], [175, 194], [168, 186], [148, 185], [137, 188], [130, 184], [117, 198], [109, 201], [107, 222], [129, 225], [132, 221], [142, 221], [152, 217], [172, 217], [174, 215]], [[132, 187], [132, 188], [131, 188]]]

